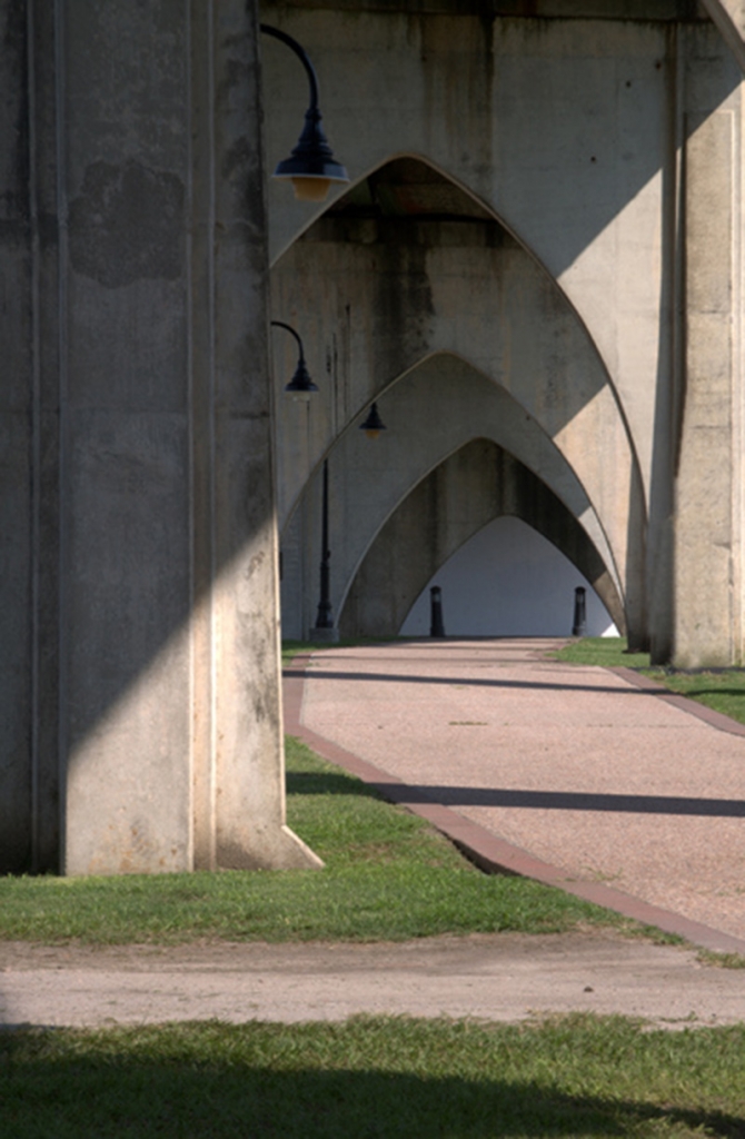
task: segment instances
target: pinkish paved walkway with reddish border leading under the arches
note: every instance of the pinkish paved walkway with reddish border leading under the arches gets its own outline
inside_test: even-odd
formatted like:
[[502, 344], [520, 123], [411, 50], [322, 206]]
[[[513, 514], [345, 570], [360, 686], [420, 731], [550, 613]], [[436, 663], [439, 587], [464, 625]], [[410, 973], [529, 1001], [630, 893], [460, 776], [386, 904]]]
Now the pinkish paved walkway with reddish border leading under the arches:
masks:
[[504, 867], [745, 952], [745, 728], [556, 641], [334, 648], [286, 726]]

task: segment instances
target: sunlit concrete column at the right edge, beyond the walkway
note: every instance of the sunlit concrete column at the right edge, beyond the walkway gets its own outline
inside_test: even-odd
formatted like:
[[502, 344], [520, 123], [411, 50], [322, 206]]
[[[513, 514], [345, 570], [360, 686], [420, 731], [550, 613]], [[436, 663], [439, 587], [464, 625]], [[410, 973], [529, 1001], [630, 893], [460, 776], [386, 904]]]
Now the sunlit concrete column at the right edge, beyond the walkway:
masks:
[[[739, 95], [721, 99], [728, 62], [691, 33], [683, 153], [685, 402], [674, 503], [672, 661], [727, 665], [742, 654], [737, 400]], [[719, 55], [719, 58], [718, 58]]]

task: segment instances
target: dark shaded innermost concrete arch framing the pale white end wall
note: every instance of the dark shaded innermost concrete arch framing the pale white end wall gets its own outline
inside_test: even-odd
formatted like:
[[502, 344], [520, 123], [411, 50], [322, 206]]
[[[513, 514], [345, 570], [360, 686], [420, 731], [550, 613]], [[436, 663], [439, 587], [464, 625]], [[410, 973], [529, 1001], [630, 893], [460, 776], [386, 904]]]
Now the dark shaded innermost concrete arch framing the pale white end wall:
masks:
[[380, 528], [339, 614], [342, 637], [395, 636], [433, 576], [484, 526], [506, 515], [522, 519], [564, 554], [624, 629], [615, 583], [572, 511], [524, 464], [478, 439], [421, 480]]

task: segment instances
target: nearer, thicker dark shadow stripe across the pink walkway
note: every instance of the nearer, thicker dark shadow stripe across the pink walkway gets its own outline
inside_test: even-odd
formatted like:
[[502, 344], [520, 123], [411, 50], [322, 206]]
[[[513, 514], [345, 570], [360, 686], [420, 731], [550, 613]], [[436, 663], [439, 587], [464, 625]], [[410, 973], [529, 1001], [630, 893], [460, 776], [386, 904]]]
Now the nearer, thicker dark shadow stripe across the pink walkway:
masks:
[[519, 790], [501, 787], [409, 786], [402, 800], [401, 785], [376, 782], [386, 797], [406, 803], [440, 803], [442, 806], [507, 806], [543, 811], [616, 811], [633, 814], [683, 814], [706, 818], [745, 818], [745, 801], [735, 798], [683, 798], [673, 795], [612, 795], [563, 790]]

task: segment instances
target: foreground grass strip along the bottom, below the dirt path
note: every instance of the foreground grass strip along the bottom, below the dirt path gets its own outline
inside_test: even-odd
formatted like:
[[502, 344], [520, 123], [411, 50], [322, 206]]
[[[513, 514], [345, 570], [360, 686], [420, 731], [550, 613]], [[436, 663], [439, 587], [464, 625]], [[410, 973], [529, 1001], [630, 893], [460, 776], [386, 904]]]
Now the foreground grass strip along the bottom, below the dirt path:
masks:
[[745, 1136], [745, 1026], [360, 1017], [0, 1034], [13, 1139]]

